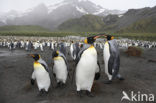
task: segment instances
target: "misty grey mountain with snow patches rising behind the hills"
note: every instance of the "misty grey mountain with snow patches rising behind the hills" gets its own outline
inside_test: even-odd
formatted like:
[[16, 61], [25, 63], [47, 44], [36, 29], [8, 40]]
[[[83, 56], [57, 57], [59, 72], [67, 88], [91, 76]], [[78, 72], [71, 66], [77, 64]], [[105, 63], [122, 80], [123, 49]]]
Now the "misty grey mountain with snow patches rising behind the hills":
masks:
[[40, 4], [24, 13], [12, 11], [0, 14], [5, 25], [40, 25], [54, 30], [66, 20], [80, 18], [86, 14], [106, 16], [121, 14], [119, 10], [107, 10], [89, 0], [63, 0], [55, 5]]

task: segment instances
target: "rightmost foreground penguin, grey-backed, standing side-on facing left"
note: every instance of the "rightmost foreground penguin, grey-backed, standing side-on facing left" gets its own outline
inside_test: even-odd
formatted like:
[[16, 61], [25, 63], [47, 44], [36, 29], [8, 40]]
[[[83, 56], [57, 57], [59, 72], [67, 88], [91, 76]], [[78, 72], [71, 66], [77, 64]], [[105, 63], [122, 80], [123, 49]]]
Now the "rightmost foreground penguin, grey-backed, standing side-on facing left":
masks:
[[106, 84], [110, 84], [114, 78], [119, 78], [123, 80], [119, 74], [120, 67], [120, 53], [118, 50], [118, 45], [113, 36], [106, 35], [107, 41], [104, 44], [103, 56], [105, 63], [105, 73], [108, 76], [109, 81]]

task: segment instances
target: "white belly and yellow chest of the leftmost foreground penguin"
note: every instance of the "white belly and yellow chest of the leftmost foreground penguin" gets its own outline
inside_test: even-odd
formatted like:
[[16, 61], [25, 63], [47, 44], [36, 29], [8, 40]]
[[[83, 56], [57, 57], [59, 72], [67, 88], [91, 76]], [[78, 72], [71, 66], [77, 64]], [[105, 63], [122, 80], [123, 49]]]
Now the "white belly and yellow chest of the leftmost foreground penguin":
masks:
[[39, 90], [45, 89], [48, 91], [51, 83], [49, 73], [40, 63], [34, 64], [34, 73]]

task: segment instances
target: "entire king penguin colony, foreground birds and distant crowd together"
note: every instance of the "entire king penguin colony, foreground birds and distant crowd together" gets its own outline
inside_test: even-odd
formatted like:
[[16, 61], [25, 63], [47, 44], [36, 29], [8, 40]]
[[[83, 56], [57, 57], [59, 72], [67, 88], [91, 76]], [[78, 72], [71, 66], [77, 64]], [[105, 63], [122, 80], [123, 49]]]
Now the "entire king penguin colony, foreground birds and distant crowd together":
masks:
[[[99, 37], [105, 37], [105, 42], [95, 42]], [[102, 39], [103, 40], [103, 39]], [[92, 87], [95, 80], [100, 78], [100, 65], [98, 61], [98, 53], [96, 48], [103, 50], [103, 59], [105, 64], [105, 73], [108, 77], [106, 84], [112, 83], [114, 79], [124, 80], [119, 74], [120, 53], [118, 47], [127, 48], [128, 46], [141, 46], [144, 48], [156, 47], [156, 42], [134, 41], [129, 39], [116, 40], [111, 35], [95, 35], [84, 39], [82, 42], [56, 42], [56, 41], [30, 41], [30, 40], [0, 40], [0, 47], [8, 47], [9, 50], [23, 48], [26, 51], [32, 49], [40, 49], [44, 51], [44, 47], [49, 47], [52, 53], [52, 75], [57, 82], [57, 88], [66, 86], [67, 81], [75, 80], [77, 94], [81, 97], [83, 91], [89, 97], [93, 97]], [[67, 51], [70, 48], [70, 52]], [[73, 74], [69, 74], [67, 54], [70, 53], [75, 62]], [[31, 75], [31, 84], [35, 81], [40, 94], [48, 93], [51, 81], [51, 72], [47, 63], [39, 54], [30, 54], [34, 59], [33, 72]]]

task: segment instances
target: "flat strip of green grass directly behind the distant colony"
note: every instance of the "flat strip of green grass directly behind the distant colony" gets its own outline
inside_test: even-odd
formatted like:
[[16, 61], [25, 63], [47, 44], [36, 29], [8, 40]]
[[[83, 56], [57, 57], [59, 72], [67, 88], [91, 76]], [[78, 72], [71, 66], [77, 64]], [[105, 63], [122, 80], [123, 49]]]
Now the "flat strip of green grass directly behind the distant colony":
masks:
[[[40, 37], [64, 37], [64, 36], [91, 36], [102, 32], [0, 32], [0, 36], [40, 36]], [[108, 33], [115, 38], [129, 38], [138, 40], [156, 41], [156, 33]]]

